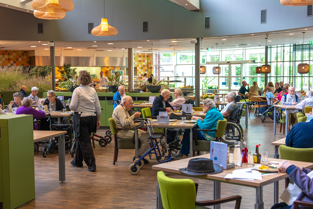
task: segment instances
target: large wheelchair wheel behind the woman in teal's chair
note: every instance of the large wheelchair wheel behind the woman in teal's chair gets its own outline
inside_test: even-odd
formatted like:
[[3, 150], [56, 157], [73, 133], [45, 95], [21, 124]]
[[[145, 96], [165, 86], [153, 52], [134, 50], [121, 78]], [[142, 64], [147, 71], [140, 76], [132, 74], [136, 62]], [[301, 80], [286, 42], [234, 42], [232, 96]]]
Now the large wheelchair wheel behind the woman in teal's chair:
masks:
[[242, 139], [241, 130], [235, 123], [227, 123], [225, 134], [220, 139], [221, 142], [226, 143], [229, 148], [233, 148], [234, 142], [241, 141]]

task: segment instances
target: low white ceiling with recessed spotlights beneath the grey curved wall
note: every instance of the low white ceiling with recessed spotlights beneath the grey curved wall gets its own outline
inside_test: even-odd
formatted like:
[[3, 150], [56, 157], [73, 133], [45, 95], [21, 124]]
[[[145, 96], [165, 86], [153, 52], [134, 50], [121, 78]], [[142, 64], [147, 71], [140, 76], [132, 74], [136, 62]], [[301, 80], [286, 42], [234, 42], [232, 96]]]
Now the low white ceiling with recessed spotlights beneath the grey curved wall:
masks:
[[[301, 29], [292, 29], [288, 31], [272, 31], [266, 33], [252, 34], [239, 34], [223, 37], [204, 37], [201, 41], [201, 49], [210, 48], [215, 49], [218, 44], [218, 49], [232, 49], [242, 47], [257, 47], [259, 45], [281, 45], [281, 44], [296, 44], [303, 41], [303, 33], [305, 32], [305, 42], [313, 41], [313, 27]], [[292, 34], [292, 35], [290, 35]], [[265, 38], [268, 42], [265, 41]], [[226, 39], [226, 40], [222, 40]], [[173, 40], [177, 42], [172, 42]], [[40, 42], [39, 42], [40, 41]], [[108, 44], [113, 43], [113, 44]], [[0, 50], [44, 50], [49, 49], [47, 41], [1, 41]], [[96, 45], [93, 47], [92, 45]], [[36, 47], [31, 47], [36, 46]], [[174, 46], [174, 47], [170, 47]], [[68, 50], [67, 47], [72, 47], [71, 50], [93, 51], [93, 50], [112, 50], [122, 52], [122, 48], [134, 48], [134, 51], [148, 52], [153, 48], [154, 52], [178, 52], [178, 51], [191, 51], [194, 49], [194, 44], [190, 43], [190, 38], [186, 39], [167, 39], [167, 40], [136, 40], [136, 41], [73, 41], [55, 42], [55, 50]], [[116, 49], [114, 49], [116, 47]], [[142, 48], [137, 48], [142, 47]], [[92, 48], [92, 49], [88, 49]], [[94, 49], [93, 49], [94, 48]], [[138, 52], [137, 52], [138, 53]]]

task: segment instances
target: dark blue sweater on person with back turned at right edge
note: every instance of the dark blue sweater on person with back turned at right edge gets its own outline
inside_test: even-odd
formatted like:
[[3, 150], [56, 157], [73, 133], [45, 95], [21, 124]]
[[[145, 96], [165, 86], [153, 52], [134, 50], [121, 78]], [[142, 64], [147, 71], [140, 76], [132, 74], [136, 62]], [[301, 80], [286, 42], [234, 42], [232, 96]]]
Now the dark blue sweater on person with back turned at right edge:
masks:
[[294, 148], [313, 148], [313, 119], [310, 122], [295, 124], [286, 136], [286, 146]]

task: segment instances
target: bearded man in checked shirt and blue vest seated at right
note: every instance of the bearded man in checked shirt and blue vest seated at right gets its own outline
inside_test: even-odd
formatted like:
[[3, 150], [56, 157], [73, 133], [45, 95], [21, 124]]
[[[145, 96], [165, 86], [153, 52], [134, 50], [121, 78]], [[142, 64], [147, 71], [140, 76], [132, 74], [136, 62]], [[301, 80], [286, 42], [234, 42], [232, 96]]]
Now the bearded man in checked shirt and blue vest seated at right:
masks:
[[[288, 89], [288, 94], [285, 94], [281, 97], [281, 101], [280, 104], [281, 105], [297, 105], [301, 102], [301, 99], [295, 95], [295, 87], [293, 86], [289, 86]], [[295, 124], [298, 123], [298, 118], [297, 118], [297, 112], [299, 112], [298, 110], [289, 110], [288, 111], [288, 128], [290, 127], [290, 120], [291, 120], [291, 116], [295, 118]], [[282, 112], [282, 115], [286, 117], [286, 111]]]

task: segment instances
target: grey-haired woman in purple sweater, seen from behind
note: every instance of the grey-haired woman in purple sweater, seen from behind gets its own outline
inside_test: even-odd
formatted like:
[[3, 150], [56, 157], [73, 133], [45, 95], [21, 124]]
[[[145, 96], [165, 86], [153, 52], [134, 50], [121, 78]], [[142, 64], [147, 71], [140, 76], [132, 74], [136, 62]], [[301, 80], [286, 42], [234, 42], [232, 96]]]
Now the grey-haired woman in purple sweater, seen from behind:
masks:
[[[16, 115], [20, 115], [20, 114], [25, 114], [25, 115], [33, 115], [33, 119], [41, 119], [46, 117], [46, 113], [42, 112], [41, 110], [38, 109], [33, 109], [32, 107], [30, 107], [33, 104], [33, 101], [31, 98], [29, 97], [25, 97], [22, 101], [22, 107], [19, 107], [16, 110]], [[34, 124], [33, 127], [34, 130], [38, 129], [38, 125]]]

